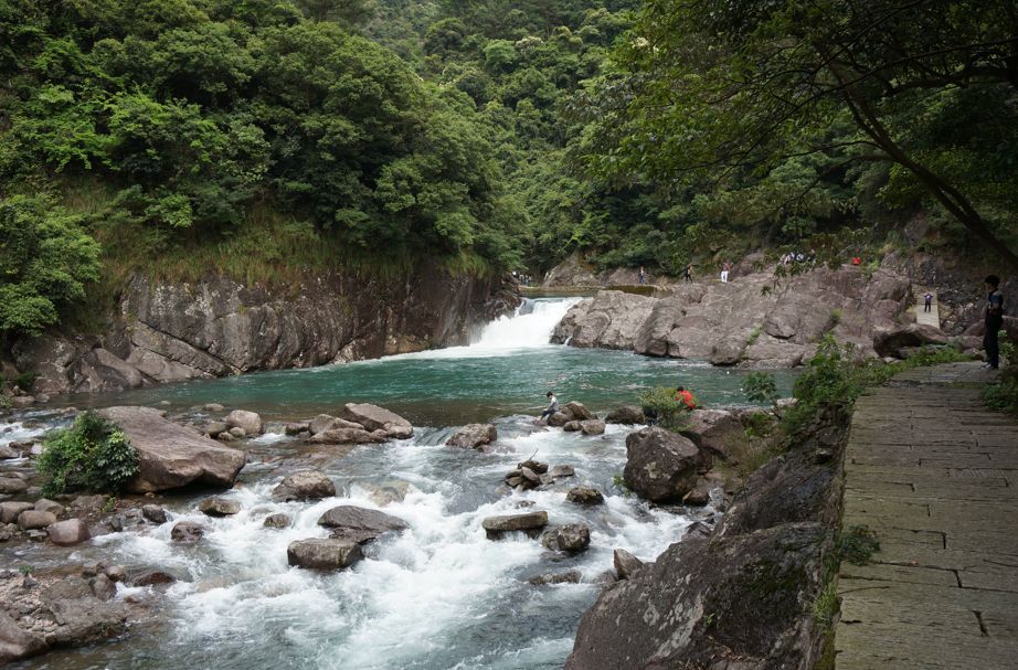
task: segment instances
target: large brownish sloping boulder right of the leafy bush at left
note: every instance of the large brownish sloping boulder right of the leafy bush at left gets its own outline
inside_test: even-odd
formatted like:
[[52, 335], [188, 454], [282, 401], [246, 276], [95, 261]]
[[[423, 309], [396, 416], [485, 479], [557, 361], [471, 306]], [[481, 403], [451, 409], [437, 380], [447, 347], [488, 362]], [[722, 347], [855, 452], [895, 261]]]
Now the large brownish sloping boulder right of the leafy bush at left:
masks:
[[230, 488], [247, 460], [243, 451], [169, 422], [151, 407], [109, 407], [99, 414], [117, 424], [138, 451], [140, 469], [128, 485], [136, 493], [190, 483]]

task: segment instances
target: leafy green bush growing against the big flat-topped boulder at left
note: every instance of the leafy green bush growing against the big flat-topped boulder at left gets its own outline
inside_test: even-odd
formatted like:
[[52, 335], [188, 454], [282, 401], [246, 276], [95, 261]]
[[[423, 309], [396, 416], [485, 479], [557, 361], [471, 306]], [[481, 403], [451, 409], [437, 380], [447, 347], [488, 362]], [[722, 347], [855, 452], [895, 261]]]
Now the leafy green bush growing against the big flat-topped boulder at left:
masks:
[[83, 412], [70, 428], [47, 437], [36, 467], [50, 476], [46, 496], [118, 491], [139, 469], [138, 453], [124, 432], [94, 412]]

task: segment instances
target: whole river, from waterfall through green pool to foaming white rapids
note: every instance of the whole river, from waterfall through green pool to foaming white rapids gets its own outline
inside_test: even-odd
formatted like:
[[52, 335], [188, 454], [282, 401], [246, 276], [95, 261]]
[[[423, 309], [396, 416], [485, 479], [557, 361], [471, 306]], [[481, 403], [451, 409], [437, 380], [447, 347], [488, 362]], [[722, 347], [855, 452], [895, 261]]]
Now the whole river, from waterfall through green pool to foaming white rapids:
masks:
[[[639, 391], [653, 385], [683, 384], [709, 405], [745, 404], [741, 371], [548, 344], [574, 301], [528, 300], [516, 317], [488, 325], [470, 347], [66, 398], [77, 407], [163, 403], [171, 415], [189, 417], [200, 414], [195, 407], [216, 402], [261, 412], [269, 430], [279, 433], [272, 422], [338, 414], [343, 403], [371, 402], [404, 415], [416, 432], [407, 440], [352, 450], [309, 447], [268, 433], [234, 443], [248, 451], [237, 486], [224, 494], [241, 502], [243, 511], [235, 517], [203, 517], [198, 512], [202, 494], [165, 497], [158, 502], [171, 512], [170, 523], [98, 536], [70, 556], [68, 550], [41, 544], [0, 547], [3, 564], [43, 567], [105, 559], [159, 567], [181, 579], [159, 606], [161, 625], [12, 667], [561, 668], [583, 611], [597, 597], [598, 576], [612, 567], [613, 550], [653, 561], [712, 509], [651, 508], [626, 496], [613, 479], [625, 466], [625, 437], [633, 427], [609, 425], [604, 435], [583, 436], [534, 426], [544, 392], [554, 390], [561, 401], [582, 402], [602, 416], [636, 404]], [[786, 394], [792, 380], [792, 374], [778, 376]], [[39, 418], [45, 422], [46, 415]], [[456, 426], [486, 421], [498, 426], [492, 453], [443, 446]], [[15, 427], [0, 435], [0, 443], [26, 435]], [[552, 466], [571, 465], [576, 477], [549, 490], [507, 494], [505, 474], [531, 455]], [[308, 467], [333, 479], [337, 498], [272, 501], [284, 475]], [[565, 491], [581, 481], [601, 489], [606, 503], [566, 502]], [[368, 545], [365, 561], [327, 574], [287, 566], [290, 542], [327, 536], [316, 523], [322, 512], [337, 504], [380, 509], [383, 496], [393, 491], [405, 491], [405, 498], [382, 509], [410, 529]], [[566, 557], [522, 534], [486, 539], [485, 517], [521, 508], [547, 510], [550, 524], [590, 525], [591, 547]], [[263, 528], [274, 512], [289, 514], [293, 525]], [[201, 521], [210, 532], [197, 545], [172, 543], [170, 529], [181, 520]], [[580, 584], [527, 582], [570, 570], [581, 573]], [[138, 591], [121, 585], [118, 597]]]

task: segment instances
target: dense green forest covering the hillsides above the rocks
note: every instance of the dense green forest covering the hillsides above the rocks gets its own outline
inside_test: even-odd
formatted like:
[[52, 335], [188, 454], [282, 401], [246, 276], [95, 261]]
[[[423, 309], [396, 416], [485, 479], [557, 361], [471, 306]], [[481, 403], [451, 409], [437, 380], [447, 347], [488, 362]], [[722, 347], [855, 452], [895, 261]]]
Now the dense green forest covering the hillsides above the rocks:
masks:
[[678, 274], [916, 213], [1014, 262], [1016, 35], [1003, 0], [0, 0], [0, 330], [97, 272]]

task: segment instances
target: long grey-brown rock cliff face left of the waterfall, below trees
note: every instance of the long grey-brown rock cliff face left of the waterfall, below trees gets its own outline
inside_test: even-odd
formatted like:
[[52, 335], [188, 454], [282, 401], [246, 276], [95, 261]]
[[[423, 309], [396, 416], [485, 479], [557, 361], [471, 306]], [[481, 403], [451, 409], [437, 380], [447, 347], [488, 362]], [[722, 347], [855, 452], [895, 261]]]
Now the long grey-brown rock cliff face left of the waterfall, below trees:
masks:
[[315, 276], [272, 289], [135, 276], [105, 334], [51, 334], [19, 342], [13, 354], [19, 369], [39, 374], [36, 392], [119, 391], [463, 344], [516, 300], [498, 280], [437, 270]]

